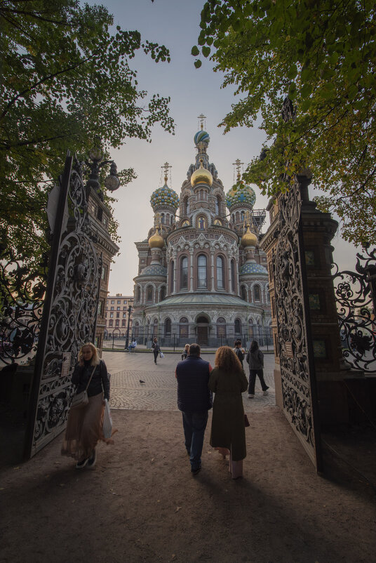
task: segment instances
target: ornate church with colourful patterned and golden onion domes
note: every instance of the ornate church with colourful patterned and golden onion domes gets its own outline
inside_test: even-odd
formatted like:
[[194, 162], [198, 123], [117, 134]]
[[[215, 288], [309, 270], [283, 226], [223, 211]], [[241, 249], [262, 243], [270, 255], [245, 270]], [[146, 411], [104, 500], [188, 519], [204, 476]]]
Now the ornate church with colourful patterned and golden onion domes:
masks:
[[178, 195], [165, 183], [152, 193], [154, 225], [136, 242], [133, 337], [150, 345], [234, 345], [240, 338], [271, 344], [267, 256], [260, 249], [265, 211], [256, 210], [255, 192], [240, 179], [225, 194], [210, 137], [194, 135], [195, 163]]

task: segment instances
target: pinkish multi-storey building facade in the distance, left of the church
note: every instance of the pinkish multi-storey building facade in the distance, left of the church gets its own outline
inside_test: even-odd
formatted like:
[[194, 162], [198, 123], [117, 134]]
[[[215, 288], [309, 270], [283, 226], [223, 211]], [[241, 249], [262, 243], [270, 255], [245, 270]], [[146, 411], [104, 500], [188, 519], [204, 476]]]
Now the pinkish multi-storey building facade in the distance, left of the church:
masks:
[[123, 296], [122, 293], [107, 296], [105, 340], [113, 337], [126, 337], [128, 327], [129, 336], [132, 335], [132, 307], [133, 296]]

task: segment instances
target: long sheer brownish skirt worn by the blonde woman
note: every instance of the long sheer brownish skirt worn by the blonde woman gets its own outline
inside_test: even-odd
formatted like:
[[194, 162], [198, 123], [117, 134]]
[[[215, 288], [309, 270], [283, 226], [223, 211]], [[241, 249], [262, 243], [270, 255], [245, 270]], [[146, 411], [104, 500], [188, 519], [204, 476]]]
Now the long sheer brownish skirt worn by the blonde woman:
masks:
[[82, 461], [92, 455], [98, 440], [111, 442], [103, 436], [103, 411], [102, 393], [89, 397], [89, 402], [83, 409], [70, 409], [62, 442], [62, 456]]

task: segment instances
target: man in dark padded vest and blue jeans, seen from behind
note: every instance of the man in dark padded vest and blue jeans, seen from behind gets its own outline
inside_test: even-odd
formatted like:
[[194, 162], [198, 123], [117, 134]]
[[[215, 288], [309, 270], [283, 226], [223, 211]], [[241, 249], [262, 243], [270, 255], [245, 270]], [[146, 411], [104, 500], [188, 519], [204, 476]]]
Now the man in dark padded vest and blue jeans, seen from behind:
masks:
[[182, 411], [184, 444], [189, 455], [191, 471], [201, 470], [203, 436], [208, 423], [208, 411], [213, 405], [213, 395], [208, 388], [211, 371], [209, 362], [200, 357], [198, 344], [189, 346], [187, 359], [176, 366], [177, 408]]

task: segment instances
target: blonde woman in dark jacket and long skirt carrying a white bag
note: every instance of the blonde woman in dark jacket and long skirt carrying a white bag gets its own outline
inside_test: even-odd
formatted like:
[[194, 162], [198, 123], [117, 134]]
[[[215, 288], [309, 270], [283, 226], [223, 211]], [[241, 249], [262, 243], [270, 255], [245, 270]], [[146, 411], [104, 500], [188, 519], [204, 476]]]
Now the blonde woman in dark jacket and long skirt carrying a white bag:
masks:
[[76, 385], [77, 394], [87, 390], [88, 404], [69, 410], [61, 453], [75, 458], [77, 469], [93, 469], [98, 440], [107, 443], [112, 443], [112, 440], [105, 439], [102, 432], [105, 399], [109, 400], [107, 367], [100, 359], [98, 349], [90, 342], [79, 351], [79, 362], [74, 368], [72, 383]]

